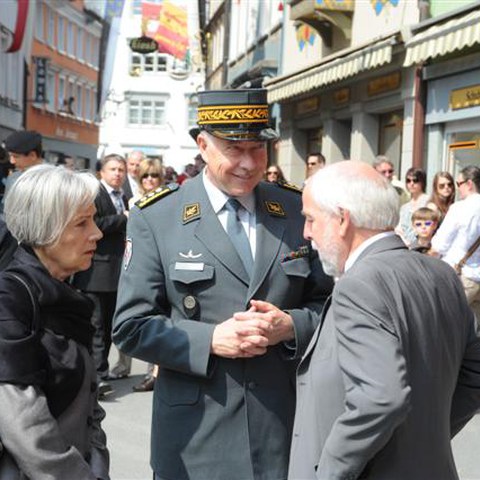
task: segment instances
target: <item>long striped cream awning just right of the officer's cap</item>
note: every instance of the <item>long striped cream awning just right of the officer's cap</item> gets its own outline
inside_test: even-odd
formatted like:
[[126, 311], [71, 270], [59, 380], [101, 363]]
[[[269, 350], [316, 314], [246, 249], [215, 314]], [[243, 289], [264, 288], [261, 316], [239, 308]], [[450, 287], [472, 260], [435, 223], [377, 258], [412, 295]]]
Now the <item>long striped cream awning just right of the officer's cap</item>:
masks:
[[392, 61], [393, 37], [366, 47], [356, 49], [352, 53], [334, 55], [325, 58], [313, 67], [292, 75], [277, 77], [266, 82], [268, 102], [280, 102], [287, 98], [301, 95], [322, 85], [338, 82], [352, 77], [359, 72], [379, 67]]

